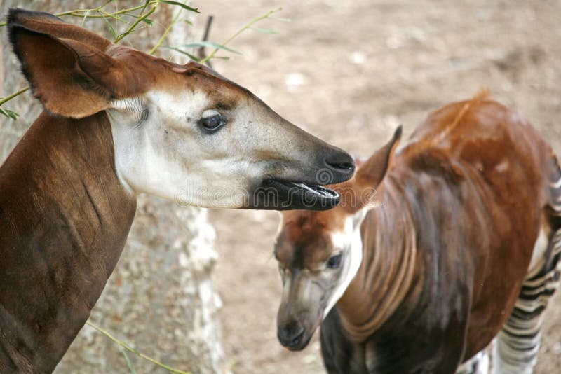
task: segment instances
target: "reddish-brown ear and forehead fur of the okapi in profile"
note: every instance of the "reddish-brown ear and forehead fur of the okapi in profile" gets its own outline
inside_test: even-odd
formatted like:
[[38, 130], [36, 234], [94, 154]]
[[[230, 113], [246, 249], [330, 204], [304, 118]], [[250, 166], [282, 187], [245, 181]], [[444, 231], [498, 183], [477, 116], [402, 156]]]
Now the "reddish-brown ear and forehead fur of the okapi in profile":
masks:
[[174, 64], [115, 46], [48, 13], [12, 11], [8, 28], [34, 96], [45, 109], [60, 116], [91, 116], [107, 109], [111, 99], [142, 95], [149, 89], [169, 90], [182, 81], [185, 86], [204, 84], [209, 91], [229, 88], [234, 102], [250, 95], [201, 64]]

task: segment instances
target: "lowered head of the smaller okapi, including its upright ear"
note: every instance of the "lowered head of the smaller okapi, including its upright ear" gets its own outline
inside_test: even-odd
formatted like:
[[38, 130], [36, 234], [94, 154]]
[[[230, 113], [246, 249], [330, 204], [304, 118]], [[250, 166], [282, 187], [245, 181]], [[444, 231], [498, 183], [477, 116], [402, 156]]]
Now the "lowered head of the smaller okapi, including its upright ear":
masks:
[[355, 176], [333, 186], [342, 203], [328, 212], [283, 212], [275, 257], [283, 280], [277, 316], [278, 340], [304, 349], [313, 332], [341, 298], [363, 258], [360, 225], [369, 209], [382, 202], [380, 183], [401, 137], [362, 164]]

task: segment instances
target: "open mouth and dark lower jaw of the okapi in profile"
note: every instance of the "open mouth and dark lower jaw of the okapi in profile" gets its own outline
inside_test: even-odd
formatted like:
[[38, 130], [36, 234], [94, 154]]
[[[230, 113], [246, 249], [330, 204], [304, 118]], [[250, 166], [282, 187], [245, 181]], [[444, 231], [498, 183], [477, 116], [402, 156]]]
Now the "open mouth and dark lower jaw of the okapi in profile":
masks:
[[256, 209], [326, 210], [339, 203], [339, 194], [329, 188], [304, 182], [266, 179], [250, 200], [250, 207]]

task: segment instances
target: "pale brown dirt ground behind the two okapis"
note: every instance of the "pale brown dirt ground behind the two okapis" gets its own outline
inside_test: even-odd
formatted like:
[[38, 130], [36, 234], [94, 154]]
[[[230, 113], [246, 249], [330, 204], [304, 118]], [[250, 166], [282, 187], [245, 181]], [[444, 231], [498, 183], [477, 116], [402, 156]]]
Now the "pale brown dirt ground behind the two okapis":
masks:
[[[278, 1], [195, 2], [223, 41]], [[428, 111], [489, 88], [539, 127], [561, 154], [561, 2], [283, 1], [280, 17], [246, 32], [243, 52], [215, 62], [280, 115], [357, 155], [397, 125], [405, 135]], [[198, 25], [201, 27], [201, 25]], [[316, 338], [290, 353], [276, 340], [280, 278], [272, 256], [276, 212], [212, 211], [227, 354], [234, 373], [323, 373]], [[550, 303], [536, 373], [561, 368], [561, 298]]]

